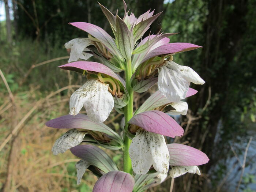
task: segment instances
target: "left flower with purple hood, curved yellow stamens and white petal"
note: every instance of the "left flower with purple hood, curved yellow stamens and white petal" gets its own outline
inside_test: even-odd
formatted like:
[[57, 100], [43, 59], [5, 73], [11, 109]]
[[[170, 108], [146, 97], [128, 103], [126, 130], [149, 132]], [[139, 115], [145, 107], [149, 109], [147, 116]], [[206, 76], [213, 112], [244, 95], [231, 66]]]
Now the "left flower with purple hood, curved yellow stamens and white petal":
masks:
[[84, 106], [91, 120], [102, 123], [114, 106], [122, 108], [126, 105], [129, 97], [120, 76], [105, 65], [77, 61], [59, 67], [83, 74], [87, 72], [87, 82], [71, 95], [69, 114], [75, 116]]

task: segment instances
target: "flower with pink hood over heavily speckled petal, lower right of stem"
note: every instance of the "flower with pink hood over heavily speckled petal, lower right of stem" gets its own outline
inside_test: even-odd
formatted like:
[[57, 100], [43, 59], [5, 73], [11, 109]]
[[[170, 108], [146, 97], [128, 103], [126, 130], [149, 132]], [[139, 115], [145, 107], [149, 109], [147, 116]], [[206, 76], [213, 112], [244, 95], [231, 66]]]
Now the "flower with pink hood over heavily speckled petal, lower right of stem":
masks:
[[183, 129], [167, 114], [153, 110], [136, 114], [128, 122], [129, 131], [136, 132], [129, 148], [133, 171], [146, 174], [151, 165], [166, 174], [169, 169], [169, 151], [163, 135], [181, 136]]

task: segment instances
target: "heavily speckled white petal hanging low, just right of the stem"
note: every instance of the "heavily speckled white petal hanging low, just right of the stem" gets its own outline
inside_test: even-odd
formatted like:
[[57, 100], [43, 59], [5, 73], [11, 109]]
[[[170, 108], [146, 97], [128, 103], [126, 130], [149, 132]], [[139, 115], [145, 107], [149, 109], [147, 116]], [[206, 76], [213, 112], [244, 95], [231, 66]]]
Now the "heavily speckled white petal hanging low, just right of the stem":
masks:
[[159, 173], [167, 173], [169, 152], [162, 135], [140, 129], [129, 148], [132, 168], [136, 174], [146, 174], [151, 165]]

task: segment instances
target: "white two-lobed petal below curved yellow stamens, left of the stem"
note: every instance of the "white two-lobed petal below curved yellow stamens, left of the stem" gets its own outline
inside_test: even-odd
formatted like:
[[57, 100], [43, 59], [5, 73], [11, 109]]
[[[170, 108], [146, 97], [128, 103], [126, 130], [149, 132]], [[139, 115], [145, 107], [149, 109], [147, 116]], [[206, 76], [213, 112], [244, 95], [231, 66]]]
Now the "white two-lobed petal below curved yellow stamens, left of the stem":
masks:
[[70, 97], [69, 114], [75, 116], [83, 106], [91, 120], [99, 123], [105, 121], [114, 107], [114, 99], [108, 91], [108, 85], [97, 79], [89, 79], [84, 83]]

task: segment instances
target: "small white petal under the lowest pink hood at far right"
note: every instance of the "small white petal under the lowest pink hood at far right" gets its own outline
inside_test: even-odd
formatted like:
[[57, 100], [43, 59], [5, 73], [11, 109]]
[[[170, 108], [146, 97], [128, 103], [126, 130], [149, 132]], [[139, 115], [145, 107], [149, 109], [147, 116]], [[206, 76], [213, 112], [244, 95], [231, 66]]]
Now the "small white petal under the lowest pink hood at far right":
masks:
[[169, 173], [172, 178], [179, 177], [185, 173], [201, 174], [197, 166], [171, 166], [171, 168]]

